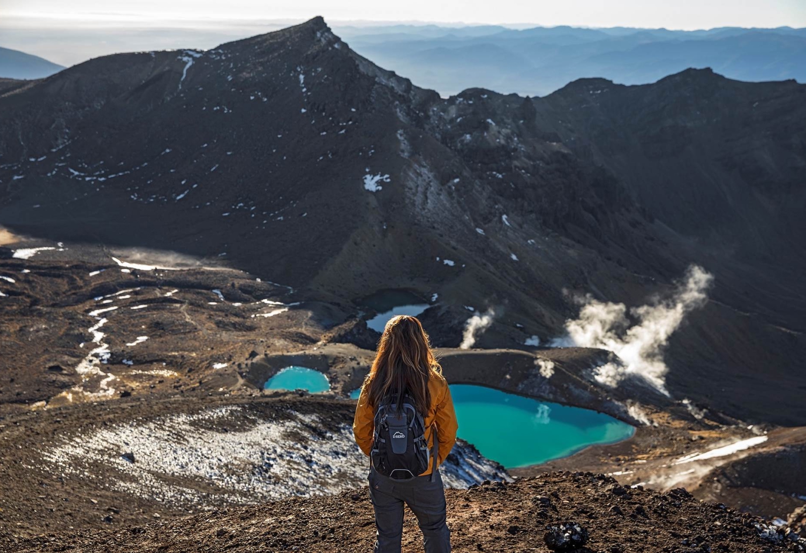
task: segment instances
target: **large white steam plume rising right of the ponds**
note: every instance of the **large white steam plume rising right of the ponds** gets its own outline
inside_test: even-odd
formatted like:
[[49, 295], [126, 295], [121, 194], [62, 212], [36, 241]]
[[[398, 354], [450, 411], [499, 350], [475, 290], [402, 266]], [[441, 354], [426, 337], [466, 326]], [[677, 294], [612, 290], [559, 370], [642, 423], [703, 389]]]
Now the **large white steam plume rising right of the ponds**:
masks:
[[629, 326], [623, 303], [598, 301], [588, 295], [579, 318], [565, 324], [567, 336], [555, 340], [559, 346], [599, 347], [613, 351], [621, 363], [611, 362], [596, 368], [594, 378], [602, 385], [615, 387], [628, 376], [638, 376], [660, 393], [668, 396], [663, 362], [663, 347], [688, 312], [703, 306], [713, 276], [697, 265], [686, 272], [675, 293], [663, 301], [634, 307], [630, 314], [638, 323]]

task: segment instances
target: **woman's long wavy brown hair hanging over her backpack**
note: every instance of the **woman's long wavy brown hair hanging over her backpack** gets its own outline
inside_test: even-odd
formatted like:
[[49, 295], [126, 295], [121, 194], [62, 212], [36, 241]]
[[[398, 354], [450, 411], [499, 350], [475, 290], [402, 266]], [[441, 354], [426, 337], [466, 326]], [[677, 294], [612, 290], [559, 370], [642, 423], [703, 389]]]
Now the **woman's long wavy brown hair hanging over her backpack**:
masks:
[[401, 405], [407, 393], [414, 408], [426, 417], [431, 405], [428, 381], [441, 373], [442, 367], [418, 318], [397, 315], [386, 323], [372, 368], [364, 378], [368, 403], [375, 408], [384, 397], [393, 394], [394, 402]]

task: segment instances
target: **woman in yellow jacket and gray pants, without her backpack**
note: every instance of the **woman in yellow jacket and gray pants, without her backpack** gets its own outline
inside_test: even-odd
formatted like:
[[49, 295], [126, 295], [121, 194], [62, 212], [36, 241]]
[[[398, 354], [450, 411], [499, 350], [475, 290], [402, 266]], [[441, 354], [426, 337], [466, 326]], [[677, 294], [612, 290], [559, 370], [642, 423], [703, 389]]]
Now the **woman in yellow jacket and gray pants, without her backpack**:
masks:
[[451, 390], [434, 359], [428, 335], [420, 321], [408, 315], [398, 315], [386, 323], [375, 361], [361, 387], [353, 433], [365, 455], [372, 452], [376, 410], [389, 398], [397, 405], [403, 401], [413, 404], [422, 416], [425, 441], [429, 448], [437, 446], [437, 454], [436, 463], [429, 462], [425, 472], [402, 480], [380, 474], [371, 461], [369, 497], [375, 508], [375, 553], [401, 551], [404, 503], [417, 517], [426, 553], [451, 551], [451, 534], [445, 522], [445, 491], [438, 465], [456, 441], [456, 414]]

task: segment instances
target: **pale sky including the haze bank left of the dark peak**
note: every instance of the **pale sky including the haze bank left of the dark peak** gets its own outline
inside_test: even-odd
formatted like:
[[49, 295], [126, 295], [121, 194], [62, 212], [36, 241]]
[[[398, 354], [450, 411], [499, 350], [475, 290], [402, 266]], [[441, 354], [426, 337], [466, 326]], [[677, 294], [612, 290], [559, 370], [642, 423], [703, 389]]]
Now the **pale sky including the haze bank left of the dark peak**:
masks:
[[112, 52], [212, 48], [314, 15], [331, 27], [348, 20], [806, 27], [806, 0], [0, 0], [0, 46], [74, 64]]

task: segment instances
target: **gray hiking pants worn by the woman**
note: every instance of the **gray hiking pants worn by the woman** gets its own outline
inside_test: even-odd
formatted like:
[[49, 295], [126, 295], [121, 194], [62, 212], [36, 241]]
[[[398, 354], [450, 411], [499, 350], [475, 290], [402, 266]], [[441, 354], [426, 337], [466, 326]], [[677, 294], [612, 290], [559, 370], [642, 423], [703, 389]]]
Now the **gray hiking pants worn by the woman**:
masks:
[[375, 553], [400, 553], [403, 504], [409, 505], [422, 530], [426, 553], [450, 553], [451, 532], [445, 522], [445, 490], [439, 471], [413, 480], [393, 480], [369, 469], [369, 497], [375, 508]]

